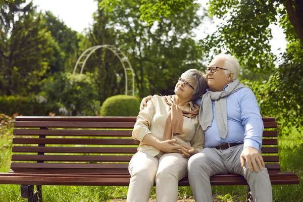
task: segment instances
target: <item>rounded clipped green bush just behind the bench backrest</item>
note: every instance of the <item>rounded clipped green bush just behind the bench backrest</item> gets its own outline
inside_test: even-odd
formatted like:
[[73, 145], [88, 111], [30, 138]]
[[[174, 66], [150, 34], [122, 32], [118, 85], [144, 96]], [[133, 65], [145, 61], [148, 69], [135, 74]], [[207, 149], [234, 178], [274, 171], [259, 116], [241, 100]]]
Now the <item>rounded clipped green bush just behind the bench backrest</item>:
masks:
[[101, 107], [101, 116], [138, 116], [140, 103], [129, 95], [115, 95], [105, 100]]

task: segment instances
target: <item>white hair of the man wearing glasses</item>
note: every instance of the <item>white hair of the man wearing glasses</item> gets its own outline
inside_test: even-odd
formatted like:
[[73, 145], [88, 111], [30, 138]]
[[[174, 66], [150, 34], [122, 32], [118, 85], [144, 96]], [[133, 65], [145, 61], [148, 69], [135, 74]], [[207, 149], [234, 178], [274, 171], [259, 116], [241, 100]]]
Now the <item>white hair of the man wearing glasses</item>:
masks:
[[213, 60], [223, 59], [225, 61], [225, 64], [222, 68], [225, 68], [227, 70], [224, 70], [225, 74], [233, 73], [232, 80], [238, 78], [239, 71], [240, 71], [240, 64], [237, 59], [230, 55], [226, 54], [220, 54], [214, 57]]

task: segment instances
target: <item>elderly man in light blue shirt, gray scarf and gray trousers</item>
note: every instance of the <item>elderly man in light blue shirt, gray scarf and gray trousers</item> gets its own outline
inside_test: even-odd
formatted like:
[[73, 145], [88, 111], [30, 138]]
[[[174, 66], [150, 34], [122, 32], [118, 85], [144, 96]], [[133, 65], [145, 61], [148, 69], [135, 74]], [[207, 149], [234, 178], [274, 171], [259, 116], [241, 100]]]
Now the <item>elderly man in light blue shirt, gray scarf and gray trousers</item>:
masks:
[[212, 201], [210, 177], [244, 176], [255, 201], [272, 201], [261, 156], [263, 121], [254, 93], [237, 80], [238, 61], [216, 56], [206, 68], [208, 92], [199, 98], [199, 122], [205, 148], [188, 161], [188, 179], [196, 201]]

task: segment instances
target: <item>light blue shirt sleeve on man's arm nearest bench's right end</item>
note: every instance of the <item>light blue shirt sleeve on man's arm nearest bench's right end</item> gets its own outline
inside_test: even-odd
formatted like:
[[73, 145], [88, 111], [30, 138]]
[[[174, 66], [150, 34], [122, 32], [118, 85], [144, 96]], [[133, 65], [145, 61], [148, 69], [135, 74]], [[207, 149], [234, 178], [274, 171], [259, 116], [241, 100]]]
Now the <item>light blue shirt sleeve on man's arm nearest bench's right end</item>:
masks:
[[260, 150], [264, 125], [257, 98], [249, 88], [241, 94], [241, 120], [245, 130], [243, 147], [250, 146]]

